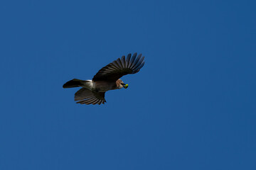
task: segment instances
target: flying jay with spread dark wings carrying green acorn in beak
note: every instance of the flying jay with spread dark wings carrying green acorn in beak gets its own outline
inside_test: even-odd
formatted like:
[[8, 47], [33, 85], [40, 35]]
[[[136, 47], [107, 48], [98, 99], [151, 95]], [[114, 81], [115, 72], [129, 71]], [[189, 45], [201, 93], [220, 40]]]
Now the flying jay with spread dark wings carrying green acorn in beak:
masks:
[[72, 79], [65, 84], [63, 88], [82, 87], [75, 93], [76, 103], [95, 105], [105, 104], [105, 92], [116, 89], [127, 89], [128, 84], [120, 79], [127, 74], [135, 74], [144, 66], [144, 57], [142, 54], [133, 55], [129, 53], [127, 57], [124, 55], [114, 62], [102, 67], [92, 80]]

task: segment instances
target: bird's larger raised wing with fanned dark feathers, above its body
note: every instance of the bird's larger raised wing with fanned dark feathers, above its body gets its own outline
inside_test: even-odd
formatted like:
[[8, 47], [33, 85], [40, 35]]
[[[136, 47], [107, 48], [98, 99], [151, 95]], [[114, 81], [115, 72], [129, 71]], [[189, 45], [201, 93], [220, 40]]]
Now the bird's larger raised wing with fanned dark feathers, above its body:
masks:
[[[132, 56], [132, 57], [131, 57]], [[134, 55], [122, 56], [122, 58], [115, 60], [114, 62], [107, 64], [107, 66], [100, 69], [97, 74], [93, 77], [93, 81], [102, 81], [102, 80], [112, 80], [117, 81], [117, 79], [121, 78], [127, 74], [134, 74], [139, 72], [144, 66], [144, 57], [142, 54], [139, 54], [137, 57], [137, 53]]]

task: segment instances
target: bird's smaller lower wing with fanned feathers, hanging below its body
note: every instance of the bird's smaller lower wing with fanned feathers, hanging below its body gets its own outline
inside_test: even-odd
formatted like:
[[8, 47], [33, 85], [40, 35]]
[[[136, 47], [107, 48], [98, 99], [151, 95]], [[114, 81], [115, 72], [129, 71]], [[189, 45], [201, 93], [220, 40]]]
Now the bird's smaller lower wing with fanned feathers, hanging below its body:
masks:
[[80, 104], [101, 104], [107, 102], [105, 100], [105, 92], [90, 91], [86, 88], [82, 88], [75, 93], [75, 101]]

